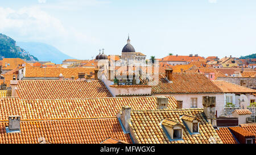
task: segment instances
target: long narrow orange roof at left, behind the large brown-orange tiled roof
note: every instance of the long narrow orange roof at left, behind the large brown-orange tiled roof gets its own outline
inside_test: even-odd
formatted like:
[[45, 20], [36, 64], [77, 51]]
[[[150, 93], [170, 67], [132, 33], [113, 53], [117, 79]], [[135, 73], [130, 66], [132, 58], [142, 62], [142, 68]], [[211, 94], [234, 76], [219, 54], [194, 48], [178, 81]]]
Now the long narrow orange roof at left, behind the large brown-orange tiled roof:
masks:
[[[94, 73], [94, 68], [26, 68], [24, 77], [59, 77], [60, 73], [64, 78], [77, 78], [78, 73], [90, 74]], [[94, 78], [94, 77], [92, 77]]]

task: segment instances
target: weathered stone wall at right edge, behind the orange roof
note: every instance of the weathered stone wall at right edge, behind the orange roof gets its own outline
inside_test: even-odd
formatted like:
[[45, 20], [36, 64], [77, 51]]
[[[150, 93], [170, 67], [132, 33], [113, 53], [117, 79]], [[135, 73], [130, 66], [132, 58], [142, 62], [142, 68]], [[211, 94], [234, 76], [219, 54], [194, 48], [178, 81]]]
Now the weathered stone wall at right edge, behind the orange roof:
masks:
[[217, 77], [217, 80], [227, 81], [234, 83], [236, 85], [249, 87], [251, 89], [256, 89], [256, 78], [247, 77]]

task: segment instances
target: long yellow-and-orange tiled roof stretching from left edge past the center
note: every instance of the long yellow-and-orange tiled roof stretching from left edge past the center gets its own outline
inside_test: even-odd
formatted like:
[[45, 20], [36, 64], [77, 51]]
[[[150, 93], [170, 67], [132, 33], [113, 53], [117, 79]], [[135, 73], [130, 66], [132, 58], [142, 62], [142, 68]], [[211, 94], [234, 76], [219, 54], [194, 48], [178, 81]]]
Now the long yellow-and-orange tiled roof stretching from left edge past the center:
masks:
[[[168, 96], [168, 109], [176, 109], [174, 97]], [[24, 120], [108, 118], [114, 117], [123, 106], [136, 110], [154, 110], [156, 97], [122, 97], [94, 99], [46, 99], [20, 100], [19, 98], [0, 99], [0, 120], [19, 115]]]

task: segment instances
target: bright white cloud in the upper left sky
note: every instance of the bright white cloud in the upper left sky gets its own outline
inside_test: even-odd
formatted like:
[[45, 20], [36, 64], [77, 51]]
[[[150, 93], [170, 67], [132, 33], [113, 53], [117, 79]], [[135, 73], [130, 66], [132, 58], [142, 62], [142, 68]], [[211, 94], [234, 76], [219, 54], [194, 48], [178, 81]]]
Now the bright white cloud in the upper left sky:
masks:
[[16, 35], [40, 37], [65, 33], [60, 20], [37, 7], [23, 7], [19, 10], [0, 7], [0, 21], [0, 31], [11, 31]]

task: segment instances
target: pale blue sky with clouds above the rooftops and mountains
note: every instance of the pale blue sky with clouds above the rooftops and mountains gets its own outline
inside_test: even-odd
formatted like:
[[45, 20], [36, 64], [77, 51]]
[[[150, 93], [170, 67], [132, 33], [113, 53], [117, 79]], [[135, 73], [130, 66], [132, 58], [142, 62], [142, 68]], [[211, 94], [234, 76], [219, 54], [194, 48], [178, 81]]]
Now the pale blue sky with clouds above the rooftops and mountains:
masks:
[[[256, 53], [255, 0], [0, 0], [0, 33], [79, 59], [135, 51], [240, 57]], [[40, 58], [39, 58], [40, 59]]]

